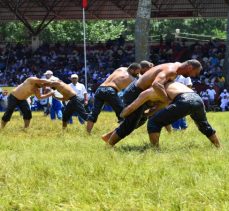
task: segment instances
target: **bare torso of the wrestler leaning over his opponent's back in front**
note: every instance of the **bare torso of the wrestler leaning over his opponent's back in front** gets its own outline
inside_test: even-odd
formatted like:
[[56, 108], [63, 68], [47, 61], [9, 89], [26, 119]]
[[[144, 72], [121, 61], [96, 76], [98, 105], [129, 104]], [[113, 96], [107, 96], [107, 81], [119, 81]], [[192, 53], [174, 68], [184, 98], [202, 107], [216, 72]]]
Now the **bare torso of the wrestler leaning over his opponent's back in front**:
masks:
[[[167, 81], [172, 81], [176, 78], [176, 70], [180, 66], [181, 63], [167, 63], [167, 64], [161, 64], [157, 65], [155, 67], [152, 67], [150, 70], [145, 72], [137, 81], [136, 85], [137, 87], [146, 90], [148, 89], [153, 81], [155, 80], [156, 76], [164, 72], [166, 75], [168, 75]], [[168, 74], [170, 73], [170, 74]], [[172, 74], [173, 73], [173, 74]], [[171, 77], [172, 75], [172, 77]]]

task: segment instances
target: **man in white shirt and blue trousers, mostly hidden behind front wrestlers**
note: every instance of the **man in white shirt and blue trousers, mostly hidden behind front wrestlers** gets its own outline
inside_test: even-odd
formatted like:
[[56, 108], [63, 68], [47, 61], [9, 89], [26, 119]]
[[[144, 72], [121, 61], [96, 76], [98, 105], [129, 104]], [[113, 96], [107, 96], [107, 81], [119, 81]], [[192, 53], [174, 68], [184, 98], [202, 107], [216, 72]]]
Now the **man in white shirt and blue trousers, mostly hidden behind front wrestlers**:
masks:
[[[178, 75], [176, 77], [175, 81], [182, 83], [189, 88], [192, 87], [192, 80], [190, 77], [184, 77], [183, 75]], [[177, 121], [173, 122], [172, 127], [175, 130], [185, 130], [188, 127], [185, 117], [178, 119]]]

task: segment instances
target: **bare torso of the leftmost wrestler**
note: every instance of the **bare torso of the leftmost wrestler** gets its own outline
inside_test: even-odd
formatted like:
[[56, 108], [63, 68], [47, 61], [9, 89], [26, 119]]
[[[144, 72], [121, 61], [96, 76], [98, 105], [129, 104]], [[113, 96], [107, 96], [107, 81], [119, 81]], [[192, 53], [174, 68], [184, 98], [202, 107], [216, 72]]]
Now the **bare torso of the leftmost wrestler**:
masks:
[[22, 84], [13, 89], [11, 94], [18, 100], [26, 100], [39, 89], [39, 87], [32, 82], [32, 79], [33, 78], [27, 78]]

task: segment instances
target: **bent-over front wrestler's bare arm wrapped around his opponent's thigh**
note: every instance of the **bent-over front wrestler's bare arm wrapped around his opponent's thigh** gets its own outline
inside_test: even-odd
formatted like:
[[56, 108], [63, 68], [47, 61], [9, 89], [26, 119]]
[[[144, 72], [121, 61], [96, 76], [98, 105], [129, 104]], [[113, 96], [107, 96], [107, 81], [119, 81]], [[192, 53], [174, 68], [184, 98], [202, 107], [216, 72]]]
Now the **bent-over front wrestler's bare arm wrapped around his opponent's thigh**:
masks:
[[132, 112], [137, 110], [141, 105], [143, 105], [145, 102], [150, 100], [152, 91], [153, 89], [149, 88], [144, 92], [142, 92], [134, 102], [132, 102], [130, 105], [128, 105], [126, 108], [123, 109], [123, 111], [120, 114], [120, 117], [125, 118], [129, 116]]

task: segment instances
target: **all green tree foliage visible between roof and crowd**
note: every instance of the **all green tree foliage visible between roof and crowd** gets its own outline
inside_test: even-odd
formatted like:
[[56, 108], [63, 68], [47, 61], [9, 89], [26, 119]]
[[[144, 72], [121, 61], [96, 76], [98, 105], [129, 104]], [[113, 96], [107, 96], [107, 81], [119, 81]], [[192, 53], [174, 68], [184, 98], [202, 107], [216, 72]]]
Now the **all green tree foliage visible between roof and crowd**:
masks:
[[[40, 22], [32, 23], [36, 28]], [[150, 36], [174, 34], [179, 28], [181, 33], [226, 38], [226, 19], [163, 19], [151, 20]], [[134, 39], [135, 20], [86, 21], [87, 42], [98, 43], [113, 40], [123, 35], [127, 40]], [[6, 41], [23, 42], [29, 40], [30, 33], [18, 21], [0, 25], [0, 34]], [[82, 21], [53, 21], [41, 32], [40, 37], [49, 43], [83, 42]]]

